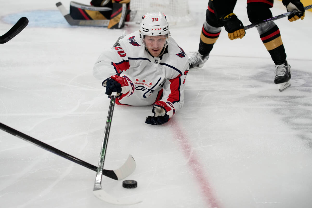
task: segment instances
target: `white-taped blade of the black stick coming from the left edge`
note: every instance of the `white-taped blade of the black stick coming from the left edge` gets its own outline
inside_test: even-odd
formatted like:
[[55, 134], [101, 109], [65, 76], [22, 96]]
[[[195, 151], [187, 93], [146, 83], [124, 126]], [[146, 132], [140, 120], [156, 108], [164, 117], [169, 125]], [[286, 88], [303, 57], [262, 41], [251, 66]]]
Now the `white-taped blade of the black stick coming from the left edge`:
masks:
[[105, 170], [103, 169], [103, 175], [105, 176], [110, 176], [110, 178], [115, 179], [113, 176], [116, 176], [115, 180], [122, 180], [126, 177], [128, 177], [131, 173], [134, 172], [136, 167], [136, 162], [134, 160], [134, 158], [132, 157], [132, 155], [129, 155], [128, 159], [126, 160], [126, 162], [124, 162], [124, 164], [119, 167], [116, 170]]

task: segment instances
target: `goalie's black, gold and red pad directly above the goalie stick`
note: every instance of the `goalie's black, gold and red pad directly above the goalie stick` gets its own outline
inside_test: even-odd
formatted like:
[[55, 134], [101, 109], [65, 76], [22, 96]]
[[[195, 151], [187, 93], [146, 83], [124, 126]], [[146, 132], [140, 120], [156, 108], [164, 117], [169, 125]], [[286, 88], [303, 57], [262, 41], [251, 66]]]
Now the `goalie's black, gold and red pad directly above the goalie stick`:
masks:
[[112, 8], [71, 2], [69, 14], [76, 20], [109, 20], [112, 15]]

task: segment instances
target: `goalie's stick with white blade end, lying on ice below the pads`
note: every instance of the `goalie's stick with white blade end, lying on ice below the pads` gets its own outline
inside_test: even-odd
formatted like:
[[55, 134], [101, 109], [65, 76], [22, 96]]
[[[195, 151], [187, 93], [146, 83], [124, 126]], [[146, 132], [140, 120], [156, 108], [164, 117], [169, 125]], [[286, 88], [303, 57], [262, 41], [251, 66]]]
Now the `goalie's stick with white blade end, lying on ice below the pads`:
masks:
[[60, 12], [70, 25], [107, 27], [108, 23], [110, 22], [110, 20], [75, 20], [71, 17], [71, 15], [61, 2], [57, 2], [56, 7], [60, 10]]

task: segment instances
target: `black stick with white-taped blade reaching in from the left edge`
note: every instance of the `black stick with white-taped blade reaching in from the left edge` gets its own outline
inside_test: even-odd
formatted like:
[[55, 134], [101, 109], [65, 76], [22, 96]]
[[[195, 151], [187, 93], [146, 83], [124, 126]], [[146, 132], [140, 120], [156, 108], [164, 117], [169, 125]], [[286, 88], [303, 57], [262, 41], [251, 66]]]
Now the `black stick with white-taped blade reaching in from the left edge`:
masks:
[[[0, 129], [2, 129], [3, 131], [7, 132], [7, 133], [10, 133], [20, 139], [23, 139], [27, 142], [30, 142], [38, 147], [41, 147], [49, 152], [52, 152], [52, 153], [55, 153], [61, 157], [64, 157], [72, 162], [76, 162], [77, 164], [79, 165], [82, 165], [84, 167], [87, 167], [93, 171], [97, 171], [97, 167], [94, 166], [94, 165], [91, 165], [85, 161], [82, 161], [80, 160], [79, 158], [77, 157], [74, 157], [74, 156], [71, 156], [70, 154], [67, 154], [65, 152], [62, 152], [61, 150], [59, 149], [56, 149], [46, 143], [43, 143], [35, 138], [32, 138], [22, 132], [19, 132], [17, 130], [15, 130], [14, 128], [11, 128], [11, 127], [8, 127], [7, 125], [4, 125], [3, 123], [0, 123]], [[116, 170], [103, 170], [103, 175], [107, 176], [107, 177], [110, 177], [112, 179], [115, 179], [115, 180], [122, 180], [124, 179], [125, 177], [129, 176], [135, 169], [136, 167], [136, 163], [133, 159], [133, 157], [131, 155], [129, 155], [127, 161], [121, 166], [119, 167], [118, 169]]]

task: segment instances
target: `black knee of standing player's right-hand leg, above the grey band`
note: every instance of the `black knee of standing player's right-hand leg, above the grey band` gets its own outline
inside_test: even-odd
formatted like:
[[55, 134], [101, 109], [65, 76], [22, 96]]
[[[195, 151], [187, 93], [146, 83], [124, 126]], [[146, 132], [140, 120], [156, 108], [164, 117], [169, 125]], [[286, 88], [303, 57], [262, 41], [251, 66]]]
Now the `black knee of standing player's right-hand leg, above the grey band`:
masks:
[[262, 2], [247, 3], [247, 15], [251, 23], [261, 22], [272, 16], [271, 6]]

